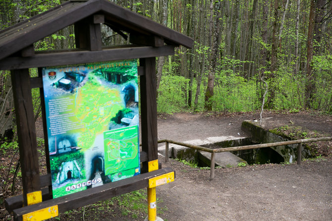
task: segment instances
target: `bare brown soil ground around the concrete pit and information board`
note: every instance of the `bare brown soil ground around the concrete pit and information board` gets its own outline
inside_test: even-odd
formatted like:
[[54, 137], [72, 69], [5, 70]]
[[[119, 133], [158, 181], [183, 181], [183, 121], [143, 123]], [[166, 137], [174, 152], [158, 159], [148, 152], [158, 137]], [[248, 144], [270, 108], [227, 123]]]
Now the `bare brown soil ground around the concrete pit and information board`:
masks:
[[[158, 119], [159, 139], [187, 141], [213, 136], [246, 136], [241, 131], [243, 120], [259, 119], [259, 113], [176, 113]], [[290, 136], [332, 136], [332, 115], [317, 112], [265, 112], [262, 126], [273, 129], [288, 125]], [[41, 123], [37, 135], [43, 137]], [[298, 132], [300, 131], [300, 132]], [[181, 162], [159, 157], [163, 167], [175, 169], [175, 181], [157, 187], [158, 216], [164, 221], [224, 221], [224, 220], [317, 220], [332, 219], [332, 142], [315, 146], [316, 159], [301, 165], [252, 165], [217, 168], [210, 181], [210, 170], [192, 168]], [[12, 154], [0, 153], [2, 167], [8, 167]], [[17, 160], [17, 159], [16, 159]], [[43, 158], [40, 159], [43, 162]], [[10, 195], [4, 189], [7, 171], [0, 170], [0, 220], [11, 220], [2, 200]], [[42, 166], [43, 168], [43, 166]], [[21, 191], [20, 181], [16, 192]], [[124, 214], [117, 201], [94, 204], [60, 216], [60, 220], [138, 220]]]

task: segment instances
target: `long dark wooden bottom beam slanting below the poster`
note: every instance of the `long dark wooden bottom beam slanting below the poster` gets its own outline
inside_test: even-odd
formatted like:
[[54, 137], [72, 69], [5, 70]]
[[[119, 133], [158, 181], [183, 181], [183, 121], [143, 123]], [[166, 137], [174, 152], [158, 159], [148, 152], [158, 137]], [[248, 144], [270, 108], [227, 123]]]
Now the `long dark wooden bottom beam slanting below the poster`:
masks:
[[174, 171], [172, 168], [166, 167], [116, 182], [106, 183], [102, 186], [97, 186], [63, 197], [47, 200], [39, 204], [22, 207], [13, 211], [14, 219], [16, 221], [21, 221], [22, 215], [24, 214], [43, 208], [48, 208], [54, 205], [58, 205], [59, 213], [62, 213], [87, 204], [98, 202], [100, 200], [110, 199], [111, 197], [118, 196], [123, 193], [128, 193], [134, 190], [148, 187], [150, 178], [163, 175], [172, 171]]

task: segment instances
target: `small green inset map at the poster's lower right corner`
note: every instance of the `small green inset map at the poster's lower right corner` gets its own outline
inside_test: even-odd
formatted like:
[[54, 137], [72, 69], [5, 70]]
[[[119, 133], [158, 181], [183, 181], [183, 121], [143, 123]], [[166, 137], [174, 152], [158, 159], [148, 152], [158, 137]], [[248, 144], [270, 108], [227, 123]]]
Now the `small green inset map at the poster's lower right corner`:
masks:
[[105, 175], [139, 165], [138, 127], [128, 126], [104, 132]]

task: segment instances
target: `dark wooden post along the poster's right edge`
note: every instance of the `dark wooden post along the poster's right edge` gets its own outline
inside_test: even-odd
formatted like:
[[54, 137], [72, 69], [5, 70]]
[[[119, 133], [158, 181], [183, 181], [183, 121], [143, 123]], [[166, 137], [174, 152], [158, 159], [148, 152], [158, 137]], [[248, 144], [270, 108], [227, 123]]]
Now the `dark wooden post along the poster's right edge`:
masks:
[[[142, 151], [154, 161], [158, 159], [156, 57], [141, 58], [140, 66], [145, 72], [140, 76]], [[148, 171], [147, 163], [143, 162], [142, 173]]]

